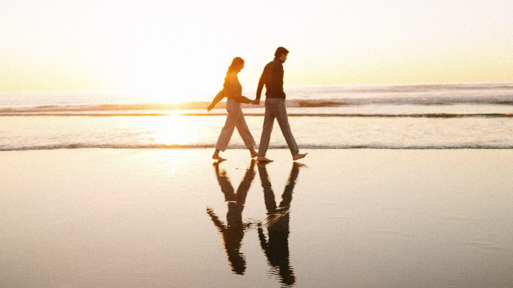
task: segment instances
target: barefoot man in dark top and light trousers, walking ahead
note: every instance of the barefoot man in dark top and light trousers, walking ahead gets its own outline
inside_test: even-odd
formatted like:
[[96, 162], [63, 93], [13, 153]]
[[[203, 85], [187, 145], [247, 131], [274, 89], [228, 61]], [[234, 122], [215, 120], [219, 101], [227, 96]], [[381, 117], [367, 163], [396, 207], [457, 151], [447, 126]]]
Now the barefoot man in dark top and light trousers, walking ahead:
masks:
[[292, 153], [292, 159], [298, 160], [306, 156], [300, 154], [298, 145], [295, 143], [294, 136], [290, 131], [287, 110], [285, 108], [285, 92], [283, 92], [283, 63], [287, 60], [288, 50], [278, 47], [274, 52], [274, 60], [270, 61], [264, 68], [257, 88], [257, 99], [255, 104], [260, 104], [262, 88], [265, 85], [265, 116], [262, 137], [260, 137], [260, 146], [257, 160], [260, 162], [270, 162], [271, 159], [265, 157], [269, 140], [272, 132], [274, 118], [278, 119], [278, 124], [282, 130], [283, 137]]

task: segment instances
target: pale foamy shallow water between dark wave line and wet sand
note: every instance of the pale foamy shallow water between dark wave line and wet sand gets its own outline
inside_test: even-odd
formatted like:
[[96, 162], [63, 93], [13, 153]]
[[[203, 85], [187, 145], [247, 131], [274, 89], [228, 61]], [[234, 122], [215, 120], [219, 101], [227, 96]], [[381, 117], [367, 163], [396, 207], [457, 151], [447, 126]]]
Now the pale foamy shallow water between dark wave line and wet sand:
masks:
[[[225, 115], [4, 116], [0, 150], [211, 148], [225, 120]], [[246, 122], [259, 143], [263, 116], [246, 116]], [[289, 122], [304, 148], [513, 148], [513, 117], [291, 116]], [[244, 148], [238, 132], [229, 147]], [[285, 147], [275, 123], [270, 148]]]

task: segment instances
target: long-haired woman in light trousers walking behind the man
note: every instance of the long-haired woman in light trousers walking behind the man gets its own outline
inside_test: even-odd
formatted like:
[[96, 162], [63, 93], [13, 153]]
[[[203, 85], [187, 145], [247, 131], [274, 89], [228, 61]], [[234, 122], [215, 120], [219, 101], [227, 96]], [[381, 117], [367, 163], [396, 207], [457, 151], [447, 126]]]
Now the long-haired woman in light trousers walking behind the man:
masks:
[[215, 152], [212, 155], [212, 158], [216, 160], [226, 160], [225, 158], [219, 156], [219, 151], [224, 152], [226, 150], [226, 147], [228, 147], [228, 142], [230, 142], [231, 135], [233, 134], [233, 129], [235, 127], [239, 131], [242, 140], [244, 140], [244, 144], [249, 149], [251, 158], [257, 157], [257, 152], [253, 149], [256, 143], [253, 139], [253, 136], [251, 136], [251, 133], [249, 132], [248, 126], [246, 125], [246, 120], [244, 119], [244, 114], [242, 113], [241, 109], [241, 103], [255, 103], [253, 100], [242, 96], [242, 86], [239, 83], [237, 74], [239, 74], [243, 68], [244, 60], [241, 57], [233, 58], [230, 67], [228, 67], [228, 72], [226, 72], [223, 90], [219, 92], [217, 96], [215, 96], [215, 98], [212, 100], [212, 103], [207, 108], [207, 110], [210, 111], [223, 97], [228, 98], [226, 101], [226, 111], [228, 111], [228, 117], [226, 118], [223, 130], [221, 130], [218, 142], [215, 144]]

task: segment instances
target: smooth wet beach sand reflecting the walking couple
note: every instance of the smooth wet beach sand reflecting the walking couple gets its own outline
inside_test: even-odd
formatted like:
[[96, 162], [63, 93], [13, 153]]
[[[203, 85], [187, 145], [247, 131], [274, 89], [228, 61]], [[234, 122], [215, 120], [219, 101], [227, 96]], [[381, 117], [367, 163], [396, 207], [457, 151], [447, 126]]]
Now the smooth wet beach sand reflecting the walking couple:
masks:
[[0, 152], [0, 287], [513, 286], [513, 150], [212, 152]]

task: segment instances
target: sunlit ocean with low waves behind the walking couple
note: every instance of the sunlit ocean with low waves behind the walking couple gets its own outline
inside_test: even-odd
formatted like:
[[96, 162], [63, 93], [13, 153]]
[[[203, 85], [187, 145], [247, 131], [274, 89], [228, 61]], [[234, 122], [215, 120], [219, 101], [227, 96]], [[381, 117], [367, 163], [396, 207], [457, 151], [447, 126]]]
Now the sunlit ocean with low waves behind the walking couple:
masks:
[[[213, 148], [226, 119], [212, 95], [178, 104], [103, 92], [0, 93], [0, 150]], [[307, 149], [512, 149], [513, 83], [285, 87]], [[253, 91], [245, 95], [254, 98]], [[263, 97], [265, 100], [265, 97]], [[243, 111], [260, 140], [260, 106]], [[270, 148], [286, 148], [275, 122]], [[234, 132], [228, 148], [244, 148]]]

